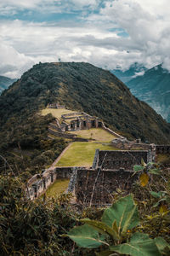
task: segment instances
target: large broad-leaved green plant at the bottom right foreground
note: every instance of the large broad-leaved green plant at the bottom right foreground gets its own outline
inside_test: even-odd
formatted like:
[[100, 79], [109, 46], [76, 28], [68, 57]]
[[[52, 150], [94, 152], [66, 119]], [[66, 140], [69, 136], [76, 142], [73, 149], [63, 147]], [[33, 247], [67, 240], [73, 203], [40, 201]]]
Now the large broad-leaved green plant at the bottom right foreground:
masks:
[[73, 228], [67, 235], [79, 247], [105, 247], [98, 256], [113, 255], [114, 252], [132, 256], [169, 255], [170, 246], [161, 237], [150, 239], [147, 234], [135, 232], [139, 225], [139, 211], [132, 195], [127, 195], [105, 209], [102, 221], [83, 218], [82, 226]]

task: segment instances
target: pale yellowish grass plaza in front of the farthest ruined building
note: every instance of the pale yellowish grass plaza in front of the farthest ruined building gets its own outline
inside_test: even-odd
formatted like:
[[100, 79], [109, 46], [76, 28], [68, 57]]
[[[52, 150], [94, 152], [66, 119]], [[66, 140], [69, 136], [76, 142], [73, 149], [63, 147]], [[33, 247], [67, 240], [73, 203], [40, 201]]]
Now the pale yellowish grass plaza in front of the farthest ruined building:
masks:
[[77, 134], [78, 137], [92, 138], [98, 142], [109, 143], [111, 140], [116, 138], [110, 132], [105, 131], [102, 128], [92, 128], [89, 130], [71, 131], [72, 134]]

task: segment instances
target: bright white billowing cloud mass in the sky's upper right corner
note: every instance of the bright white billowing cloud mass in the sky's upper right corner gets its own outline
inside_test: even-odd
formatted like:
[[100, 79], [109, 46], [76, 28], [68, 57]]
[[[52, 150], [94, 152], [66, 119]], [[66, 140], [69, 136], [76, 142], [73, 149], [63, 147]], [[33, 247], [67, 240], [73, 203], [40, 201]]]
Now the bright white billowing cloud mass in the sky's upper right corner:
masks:
[[[169, 69], [170, 52], [167, 9], [170, 3], [163, 1], [116, 0], [108, 1], [100, 15], [117, 27], [122, 27], [129, 35], [129, 44], [121, 44], [127, 51], [140, 52], [139, 62], [151, 67], [164, 62]], [[123, 42], [122, 42], [123, 43]], [[168, 60], [167, 60], [168, 59]]]

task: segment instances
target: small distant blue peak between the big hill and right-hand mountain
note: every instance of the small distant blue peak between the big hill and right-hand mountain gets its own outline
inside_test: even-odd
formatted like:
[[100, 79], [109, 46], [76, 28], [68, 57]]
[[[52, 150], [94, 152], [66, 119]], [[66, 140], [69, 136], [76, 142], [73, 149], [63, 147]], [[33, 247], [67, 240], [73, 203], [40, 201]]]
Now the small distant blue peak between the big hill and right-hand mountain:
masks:
[[140, 75], [143, 75], [147, 69], [140, 65], [139, 63], [135, 62], [131, 67], [127, 70], [122, 71], [121, 68], [117, 67], [116, 69], [111, 70], [111, 73], [116, 75], [118, 79], [120, 79], [123, 83], [127, 83], [133, 78], [136, 78]]

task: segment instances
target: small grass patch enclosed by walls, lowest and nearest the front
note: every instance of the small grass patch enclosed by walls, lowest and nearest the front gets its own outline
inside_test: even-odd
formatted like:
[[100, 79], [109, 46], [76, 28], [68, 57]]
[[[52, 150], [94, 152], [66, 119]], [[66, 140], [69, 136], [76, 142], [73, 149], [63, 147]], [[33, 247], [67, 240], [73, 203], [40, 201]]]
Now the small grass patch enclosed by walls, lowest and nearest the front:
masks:
[[61, 192], [65, 192], [68, 188], [69, 179], [57, 179], [46, 191], [47, 197], [53, 197], [59, 195]]

